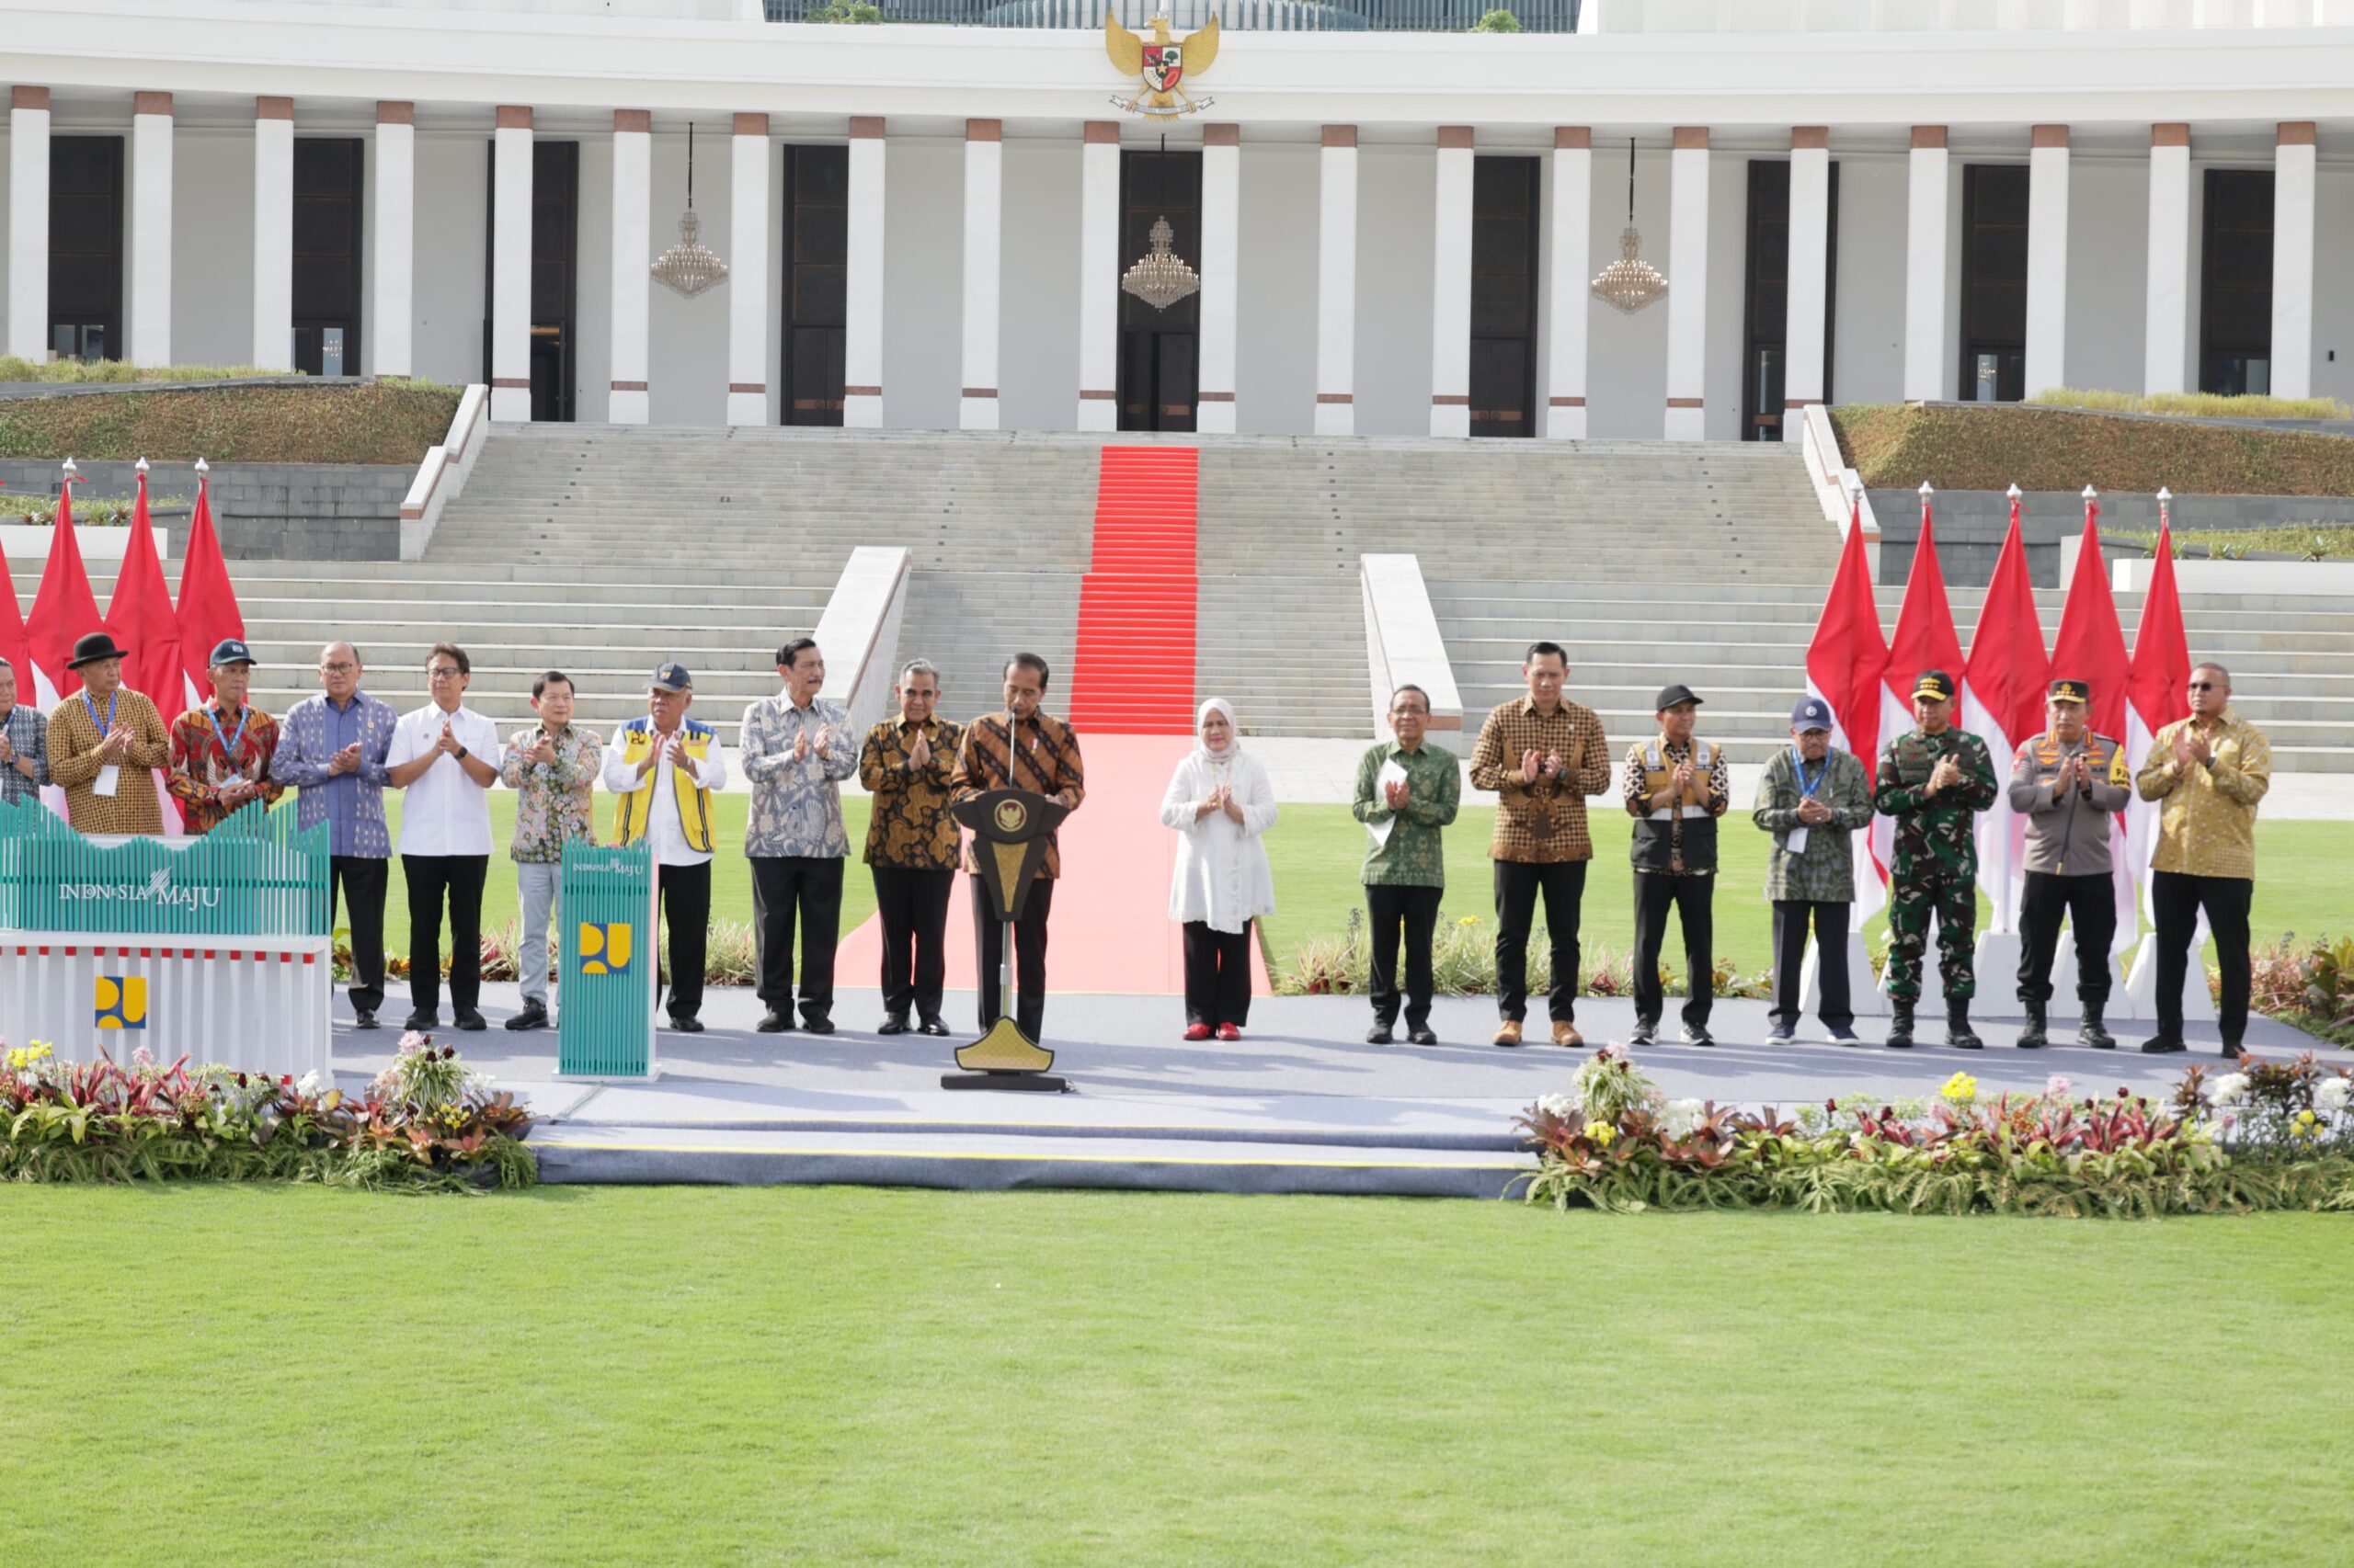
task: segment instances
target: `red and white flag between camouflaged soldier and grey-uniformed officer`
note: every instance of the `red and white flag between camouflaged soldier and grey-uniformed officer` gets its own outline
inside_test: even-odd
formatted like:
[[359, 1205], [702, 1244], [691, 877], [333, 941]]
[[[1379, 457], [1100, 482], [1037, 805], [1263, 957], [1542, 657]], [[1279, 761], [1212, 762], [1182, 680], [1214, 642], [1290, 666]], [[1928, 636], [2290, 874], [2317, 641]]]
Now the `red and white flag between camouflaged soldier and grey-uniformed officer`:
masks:
[[[2050, 655], [2043, 652], [2043, 622], [2027, 577], [2020, 487], [2013, 485], [2010, 532], [2003, 534], [2003, 553], [1994, 558], [1987, 603], [1970, 631], [1970, 664], [1961, 676], [1961, 727], [1987, 742], [1999, 784], [2010, 777], [2013, 749], [2043, 730], [2048, 685]], [[1977, 815], [1975, 831], [1977, 885], [1994, 904], [1989, 930], [2017, 930], [2020, 892], [2027, 885], [2027, 822], [2010, 810], [2010, 791], [1994, 793], [1994, 805]]]

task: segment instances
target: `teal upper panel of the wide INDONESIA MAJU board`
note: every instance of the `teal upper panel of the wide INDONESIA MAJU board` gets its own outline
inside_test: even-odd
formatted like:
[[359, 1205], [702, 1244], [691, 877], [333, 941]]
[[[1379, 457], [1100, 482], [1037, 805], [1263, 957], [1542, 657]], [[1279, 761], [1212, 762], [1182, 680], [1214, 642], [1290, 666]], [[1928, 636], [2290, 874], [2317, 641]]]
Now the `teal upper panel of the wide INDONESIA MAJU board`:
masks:
[[257, 800], [202, 838], [97, 841], [0, 803], [0, 928], [125, 937], [325, 937], [327, 824]]

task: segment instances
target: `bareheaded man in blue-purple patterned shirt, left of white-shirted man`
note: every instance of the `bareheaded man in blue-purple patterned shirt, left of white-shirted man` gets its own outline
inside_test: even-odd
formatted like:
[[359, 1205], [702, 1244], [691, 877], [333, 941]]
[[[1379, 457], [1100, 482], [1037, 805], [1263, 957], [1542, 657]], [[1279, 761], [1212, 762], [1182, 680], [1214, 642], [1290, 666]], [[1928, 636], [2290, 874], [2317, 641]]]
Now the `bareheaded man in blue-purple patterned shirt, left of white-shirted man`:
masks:
[[318, 697], [287, 709], [271, 777], [301, 791], [297, 826], [327, 824], [327, 913], [344, 902], [351, 928], [351, 1026], [374, 1029], [384, 1005], [384, 883], [393, 838], [384, 826], [384, 758], [400, 718], [360, 690], [360, 650], [327, 643]]

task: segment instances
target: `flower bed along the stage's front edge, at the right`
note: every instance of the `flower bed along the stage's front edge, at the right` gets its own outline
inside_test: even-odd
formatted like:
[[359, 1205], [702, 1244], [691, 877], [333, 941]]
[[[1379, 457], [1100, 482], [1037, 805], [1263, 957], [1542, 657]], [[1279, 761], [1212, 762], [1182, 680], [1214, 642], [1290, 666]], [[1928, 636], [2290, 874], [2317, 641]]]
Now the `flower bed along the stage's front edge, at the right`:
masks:
[[1798, 1208], [1909, 1215], [2159, 1215], [2309, 1208], [2354, 1212], [2354, 1074], [2241, 1059], [2194, 1067], [2156, 1102], [2041, 1095], [1977, 1099], [1954, 1074], [1933, 1102], [1836, 1097], [1782, 1116], [1667, 1099], [1636, 1064], [1601, 1050], [1572, 1092], [1518, 1121], [1537, 1149], [1530, 1203]]

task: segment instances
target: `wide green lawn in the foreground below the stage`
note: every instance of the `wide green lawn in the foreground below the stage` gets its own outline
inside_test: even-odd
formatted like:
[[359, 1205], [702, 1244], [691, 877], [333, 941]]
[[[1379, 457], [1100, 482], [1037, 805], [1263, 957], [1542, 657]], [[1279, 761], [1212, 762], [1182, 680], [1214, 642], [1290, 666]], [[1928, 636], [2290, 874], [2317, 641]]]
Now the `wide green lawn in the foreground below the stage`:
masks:
[[2345, 1217], [9, 1189], [0, 1561], [2342, 1563]]

